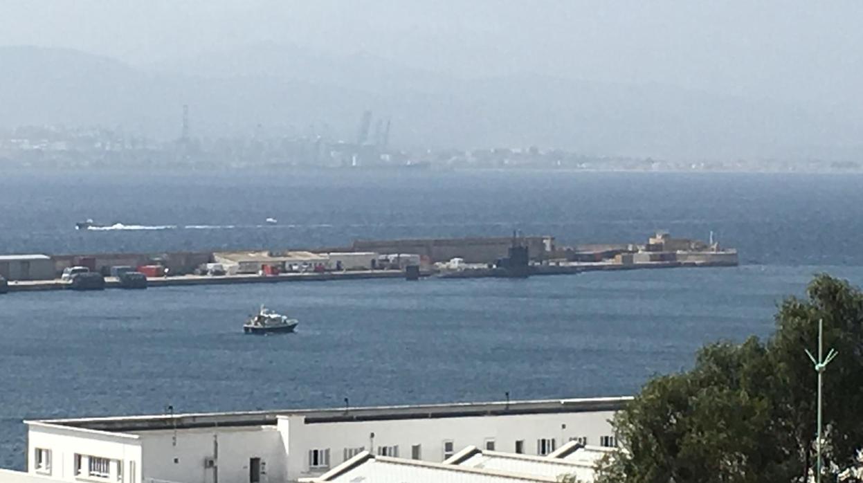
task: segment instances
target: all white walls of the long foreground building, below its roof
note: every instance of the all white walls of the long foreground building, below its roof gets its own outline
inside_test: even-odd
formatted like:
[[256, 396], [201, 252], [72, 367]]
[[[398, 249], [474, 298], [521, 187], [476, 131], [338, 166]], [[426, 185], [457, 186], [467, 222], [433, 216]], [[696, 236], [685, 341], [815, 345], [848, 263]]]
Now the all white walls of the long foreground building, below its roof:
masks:
[[[387, 411], [365, 411], [365, 416], [383, 416]], [[309, 416], [328, 414], [340, 413], [312, 412]], [[516, 440], [523, 440], [525, 453], [536, 455], [540, 438], [553, 439], [557, 448], [576, 436], [586, 436], [589, 444], [598, 444], [601, 436], [614, 434], [609, 423], [613, 416], [614, 411], [583, 411], [306, 423], [306, 414], [299, 412], [278, 417], [275, 425], [213, 426], [176, 433], [112, 433], [34, 422], [29, 423], [28, 470], [35, 474], [35, 449], [43, 448], [52, 451], [50, 476], [62, 480], [76, 481], [73, 468], [78, 453], [123, 461], [122, 483], [148, 479], [214, 483], [214, 470], [205, 467], [205, 460], [214, 456], [217, 441], [218, 483], [248, 482], [250, 458], [261, 458], [261, 483], [275, 483], [322, 474], [323, 468], [309, 469], [310, 449], [329, 449], [329, 467], [344, 461], [346, 448], [362, 447], [376, 454], [381, 446], [397, 445], [400, 457], [411, 458], [415, 444], [421, 447], [421, 459], [439, 462], [444, 460], [446, 440], [453, 442], [453, 453], [469, 445], [485, 448], [489, 439], [494, 440], [496, 450], [514, 452]]]

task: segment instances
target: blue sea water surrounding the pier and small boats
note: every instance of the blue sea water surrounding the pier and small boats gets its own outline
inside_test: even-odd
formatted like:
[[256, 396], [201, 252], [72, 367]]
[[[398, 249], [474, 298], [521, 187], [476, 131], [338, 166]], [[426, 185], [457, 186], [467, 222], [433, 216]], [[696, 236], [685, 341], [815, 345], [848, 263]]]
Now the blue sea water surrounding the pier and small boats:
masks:
[[[770, 336], [814, 273], [863, 285], [863, 176], [566, 172], [0, 173], [0, 252], [334, 246], [654, 229], [741, 266], [0, 296], [0, 466], [22, 419], [631, 394], [715, 340]], [[280, 224], [267, 226], [273, 216]], [[85, 218], [129, 228], [75, 231]], [[190, 228], [186, 228], [190, 227]], [[209, 228], [207, 228], [209, 227]], [[250, 337], [267, 303], [297, 334]]]

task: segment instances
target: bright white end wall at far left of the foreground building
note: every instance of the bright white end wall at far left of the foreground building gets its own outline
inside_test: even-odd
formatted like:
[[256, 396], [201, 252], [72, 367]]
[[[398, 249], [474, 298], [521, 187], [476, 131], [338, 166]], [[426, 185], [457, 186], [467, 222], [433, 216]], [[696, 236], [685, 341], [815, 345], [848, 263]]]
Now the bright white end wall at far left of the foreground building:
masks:
[[[77, 453], [122, 461], [121, 483], [141, 481], [141, 442], [137, 436], [29, 423], [27, 461], [30, 474], [37, 474], [36, 448], [51, 451], [51, 469], [50, 473], [46, 474], [51, 478], [76, 481], [74, 458]], [[111, 471], [113, 473], [116, 470], [112, 467]], [[114, 481], [116, 480], [112, 479], [112, 483]]]

